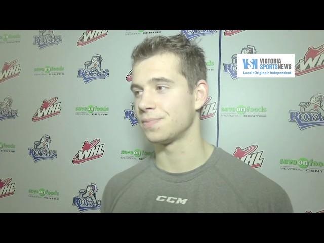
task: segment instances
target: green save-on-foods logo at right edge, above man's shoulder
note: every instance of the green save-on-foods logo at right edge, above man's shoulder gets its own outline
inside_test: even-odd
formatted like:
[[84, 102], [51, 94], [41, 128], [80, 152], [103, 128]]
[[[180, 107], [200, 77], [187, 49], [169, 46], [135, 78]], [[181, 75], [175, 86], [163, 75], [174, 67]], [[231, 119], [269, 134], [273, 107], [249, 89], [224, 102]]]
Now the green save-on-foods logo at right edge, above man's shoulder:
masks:
[[280, 159], [280, 169], [289, 171], [304, 171], [322, 174], [324, 172], [324, 163], [301, 157], [299, 159]]

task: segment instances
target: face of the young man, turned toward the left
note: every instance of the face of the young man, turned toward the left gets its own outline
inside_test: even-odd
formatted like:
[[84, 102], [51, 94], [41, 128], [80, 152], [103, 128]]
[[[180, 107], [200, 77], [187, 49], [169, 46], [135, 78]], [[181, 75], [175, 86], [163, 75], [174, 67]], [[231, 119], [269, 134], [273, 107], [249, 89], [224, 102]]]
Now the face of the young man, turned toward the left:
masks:
[[183, 137], [194, 120], [194, 95], [179, 70], [179, 58], [172, 53], [152, 56], [133, 68], [135, 112], [152, 143], [169, 144]]

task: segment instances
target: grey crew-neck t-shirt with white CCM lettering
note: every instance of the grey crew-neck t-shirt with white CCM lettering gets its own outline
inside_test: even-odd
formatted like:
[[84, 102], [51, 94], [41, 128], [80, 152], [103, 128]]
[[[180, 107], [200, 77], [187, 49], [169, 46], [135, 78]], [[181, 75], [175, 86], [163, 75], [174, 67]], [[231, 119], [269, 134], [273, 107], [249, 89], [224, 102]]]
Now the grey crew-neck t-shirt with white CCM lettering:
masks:
[[154, 157], [113, 176], [101, 212], [293, 212], [277, 183], [214, 146], [209, 159], [184, 173], [159, 169]]

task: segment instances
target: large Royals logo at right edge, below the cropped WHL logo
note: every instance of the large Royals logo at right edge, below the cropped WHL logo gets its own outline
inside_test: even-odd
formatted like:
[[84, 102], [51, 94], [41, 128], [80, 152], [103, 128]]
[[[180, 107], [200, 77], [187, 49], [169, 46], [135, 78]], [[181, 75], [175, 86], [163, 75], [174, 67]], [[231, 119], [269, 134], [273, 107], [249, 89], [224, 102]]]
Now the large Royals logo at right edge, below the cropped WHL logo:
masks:
[[289, 111], [289, 122], [297, 123], [300, 130], [324, 125], [324, 94], [317, 93], [309, 102], [301, 102], [299, 111]]

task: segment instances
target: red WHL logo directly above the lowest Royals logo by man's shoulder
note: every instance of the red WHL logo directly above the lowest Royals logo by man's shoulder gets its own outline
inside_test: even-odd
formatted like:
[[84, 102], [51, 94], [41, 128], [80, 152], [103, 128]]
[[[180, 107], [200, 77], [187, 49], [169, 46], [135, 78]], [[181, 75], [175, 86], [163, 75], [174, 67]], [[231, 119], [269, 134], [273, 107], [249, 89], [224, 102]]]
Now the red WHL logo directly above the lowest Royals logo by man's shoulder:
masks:
[[90, 143], [86, 140], [82, 146], [82, 149], [79, 150], [74, 156], [72, 163], [81, 164], [89, 160], [101, 158], [105, 150], [103, 149], [103, 143], [97, 145], [99, 142], [99, 138], [91, 141]]

